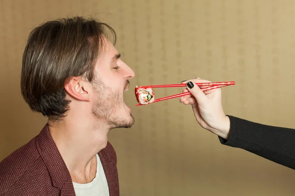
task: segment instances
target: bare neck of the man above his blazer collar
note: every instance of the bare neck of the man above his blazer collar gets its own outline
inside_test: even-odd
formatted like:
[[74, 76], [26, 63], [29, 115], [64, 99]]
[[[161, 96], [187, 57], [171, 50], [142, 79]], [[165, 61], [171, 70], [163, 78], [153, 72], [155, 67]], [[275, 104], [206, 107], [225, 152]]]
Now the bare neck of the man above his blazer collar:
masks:
[[67, 116], [62, 122], [49, 121], [48, 124], [51, 136], [72, 178], [91, 181], [95, 176], [90, 176], [94, 167], [96, 172], [96, 154], [106, 147], [110, 129], [104, 123], [91, 123], [89, 118], [83, 116]]

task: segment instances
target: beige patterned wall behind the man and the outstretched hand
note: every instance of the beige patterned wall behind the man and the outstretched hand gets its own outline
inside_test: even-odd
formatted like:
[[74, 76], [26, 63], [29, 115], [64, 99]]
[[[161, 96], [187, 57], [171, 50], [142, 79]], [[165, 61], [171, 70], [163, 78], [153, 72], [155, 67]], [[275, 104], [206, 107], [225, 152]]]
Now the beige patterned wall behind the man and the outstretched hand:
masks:
[[[0, 0], [0, 160], [46, 123], [20, 94], [30, 30], [90, 14], [115, 28], [117, 49], [136, 73], [126, 94], [136, 123], [109, 135], [122, 196], [294, 195], [293, 170], [222, 146], [178, 98], [135, 107], [132, 90], [197, 76], [235, 80], [223, 89], [227, 114], [295, 127], [294, 0]], [[155, 89], [157, 97], [180, 92]]]

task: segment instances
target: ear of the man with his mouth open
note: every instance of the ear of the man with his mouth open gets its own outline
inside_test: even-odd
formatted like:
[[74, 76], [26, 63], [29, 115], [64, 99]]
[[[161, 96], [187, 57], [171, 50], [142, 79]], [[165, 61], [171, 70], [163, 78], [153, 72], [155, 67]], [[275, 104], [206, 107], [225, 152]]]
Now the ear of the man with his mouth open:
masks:
[[90, 101], [90, 94], [86, 81], [83, 81], [80, 77], [71, 77], [66, 80], [64, 84], [65, 91], [81, 101]]

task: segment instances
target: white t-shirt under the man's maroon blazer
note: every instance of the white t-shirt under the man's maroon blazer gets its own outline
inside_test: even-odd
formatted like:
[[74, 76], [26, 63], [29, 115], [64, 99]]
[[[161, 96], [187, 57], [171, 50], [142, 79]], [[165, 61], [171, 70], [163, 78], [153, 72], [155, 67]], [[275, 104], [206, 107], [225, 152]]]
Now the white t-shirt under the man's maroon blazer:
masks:
[[98, 154], [95, 178], [87, 184], [73, 182], [76, 196], [109, 196], [109, 187], [106, 175]]

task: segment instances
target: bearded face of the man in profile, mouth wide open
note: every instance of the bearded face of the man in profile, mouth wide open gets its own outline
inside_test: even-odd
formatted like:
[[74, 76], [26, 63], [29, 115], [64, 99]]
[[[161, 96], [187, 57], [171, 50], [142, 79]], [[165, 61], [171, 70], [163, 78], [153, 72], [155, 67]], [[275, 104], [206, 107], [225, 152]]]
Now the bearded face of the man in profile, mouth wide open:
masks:
[[107, 40], [95, 65], [95, 91], [92, 113], [111, 128], [129, 128], [134, 123], [131, 109], [123, 101], [133, 70], [121, 59], [118, 50]]

